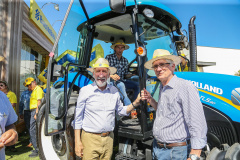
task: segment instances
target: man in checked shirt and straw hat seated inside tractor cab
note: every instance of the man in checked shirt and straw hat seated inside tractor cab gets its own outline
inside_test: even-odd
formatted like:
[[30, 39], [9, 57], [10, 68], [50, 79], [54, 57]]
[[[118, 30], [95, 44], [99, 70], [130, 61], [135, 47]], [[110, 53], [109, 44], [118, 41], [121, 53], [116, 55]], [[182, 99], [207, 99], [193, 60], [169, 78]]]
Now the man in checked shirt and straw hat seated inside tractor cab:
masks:
[[114, 50], [113, 54], [107, 55], [106, 59], [109, 62], [109, 65], [111, 67], [117, 68], [117, 73], [114, 75], [110, 75], [110, 78], [114, 81], [116, 81], [117, 87], [120, 90], [121, 98], [124, 96], [124, 104], [129, 105], [131, 104], [131, 101], [129, 100], [129, 97], [126, 94], [126, 89], [133, 89], [134, 90], [134, 96], [133, 99], [137, 98], [137, 95], [139, 93], [139, 84], [135, 81], [127, 80], [126, 78], [130, 78], [132, 75], [128, 74], [128, 60], [122, 56], [123, 51], [129, 49], [129, 46], [124, 43], [122, 39], [119, 39], [111, 45], [111, 48]]

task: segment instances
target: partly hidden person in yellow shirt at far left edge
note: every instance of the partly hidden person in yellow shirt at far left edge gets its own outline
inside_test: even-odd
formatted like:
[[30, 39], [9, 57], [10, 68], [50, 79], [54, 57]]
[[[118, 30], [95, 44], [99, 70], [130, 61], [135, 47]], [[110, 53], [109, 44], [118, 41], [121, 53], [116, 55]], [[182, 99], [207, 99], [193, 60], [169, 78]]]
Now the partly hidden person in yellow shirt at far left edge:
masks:
[[14, 92], [9, 90], [8, 83], [0, 80], [0, 90], [5, 93], [16, 112], [17, 96]]

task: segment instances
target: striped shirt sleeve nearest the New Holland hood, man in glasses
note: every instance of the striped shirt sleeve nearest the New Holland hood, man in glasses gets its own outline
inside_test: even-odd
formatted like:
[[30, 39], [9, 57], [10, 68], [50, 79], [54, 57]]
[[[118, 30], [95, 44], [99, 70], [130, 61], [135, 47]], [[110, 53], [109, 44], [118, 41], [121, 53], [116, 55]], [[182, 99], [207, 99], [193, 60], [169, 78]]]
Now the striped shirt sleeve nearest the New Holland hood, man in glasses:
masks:
[[207, 143], [207, 124], [198, 90], [190, 83], [183, 92], [183, 112], [191, 136], [191, 147], [202, 149]]

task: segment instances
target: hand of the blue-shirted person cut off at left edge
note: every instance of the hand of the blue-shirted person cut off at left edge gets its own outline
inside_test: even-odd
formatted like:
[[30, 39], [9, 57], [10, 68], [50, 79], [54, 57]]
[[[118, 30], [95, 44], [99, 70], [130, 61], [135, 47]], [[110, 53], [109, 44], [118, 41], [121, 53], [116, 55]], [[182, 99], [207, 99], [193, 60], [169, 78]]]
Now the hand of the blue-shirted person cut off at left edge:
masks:
[[18, 134], [14, 129], [9, 129], [0, 138], [0, 149], [4, 146], [14, 145], [18, 141]]

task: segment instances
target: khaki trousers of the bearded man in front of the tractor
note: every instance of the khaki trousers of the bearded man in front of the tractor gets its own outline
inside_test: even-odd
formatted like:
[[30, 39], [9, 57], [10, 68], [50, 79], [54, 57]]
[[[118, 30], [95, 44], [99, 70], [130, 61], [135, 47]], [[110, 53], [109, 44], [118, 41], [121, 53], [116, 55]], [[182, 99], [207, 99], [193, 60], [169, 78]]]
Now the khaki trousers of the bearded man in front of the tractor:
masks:
[[111, 160], [113, 139], [113, 132], [109, 136], [101, 137], [100, 135], [82, 130], [83, 160]]

